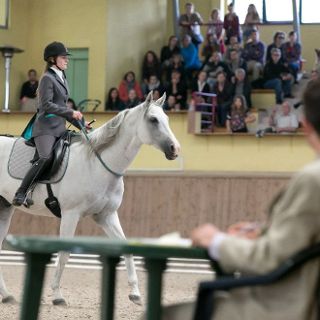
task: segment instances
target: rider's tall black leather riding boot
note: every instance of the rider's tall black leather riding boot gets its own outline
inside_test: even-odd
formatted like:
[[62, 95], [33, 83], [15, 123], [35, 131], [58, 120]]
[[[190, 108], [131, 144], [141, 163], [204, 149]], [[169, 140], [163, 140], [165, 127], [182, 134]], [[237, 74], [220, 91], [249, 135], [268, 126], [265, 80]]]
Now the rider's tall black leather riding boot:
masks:
[[12, 204], [14, 206], [21, 206], [24, 203], [29, 187], [43, 173], [48, 162], [48, 159], [39, 159], [29, 169], [12, 200]]

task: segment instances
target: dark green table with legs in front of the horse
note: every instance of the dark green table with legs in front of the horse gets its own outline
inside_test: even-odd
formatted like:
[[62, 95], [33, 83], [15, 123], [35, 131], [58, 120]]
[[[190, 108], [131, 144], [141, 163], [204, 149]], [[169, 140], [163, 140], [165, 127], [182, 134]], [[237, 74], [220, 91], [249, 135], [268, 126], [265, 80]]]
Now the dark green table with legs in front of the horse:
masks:
[[114, 313], [114, 294], [116, 265], [124, 254], [142, 256], [148, 272], [147, 320], [161, 319], [162, 275], [168, 258], [208, 259], [205, 249], [157, 245], [147, 239], [109, 240], [102, 237], [18, 237], [9, 235], [10, 249], [25, 252], [27, 270], [25, 275], [21, 320], [36, 320], [46, 264], [53, 253], [91, 253], [100, 256], [103, 266], [101, 319], [112, 320]]

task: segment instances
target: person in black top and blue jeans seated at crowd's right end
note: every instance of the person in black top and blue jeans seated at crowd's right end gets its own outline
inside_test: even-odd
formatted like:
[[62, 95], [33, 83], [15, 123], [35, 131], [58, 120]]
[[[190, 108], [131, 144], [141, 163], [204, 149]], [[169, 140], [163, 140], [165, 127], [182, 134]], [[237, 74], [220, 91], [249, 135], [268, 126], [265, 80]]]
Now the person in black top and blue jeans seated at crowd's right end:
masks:
[[292, 98], [291, 79], [289, 69], [280, 61], [281, 51], [277, 48], [271, 50], [271, 61], [267, 62], [263, 70], [264, 88], [274, 89], [276, 103], [283, 102], [285, 98]]

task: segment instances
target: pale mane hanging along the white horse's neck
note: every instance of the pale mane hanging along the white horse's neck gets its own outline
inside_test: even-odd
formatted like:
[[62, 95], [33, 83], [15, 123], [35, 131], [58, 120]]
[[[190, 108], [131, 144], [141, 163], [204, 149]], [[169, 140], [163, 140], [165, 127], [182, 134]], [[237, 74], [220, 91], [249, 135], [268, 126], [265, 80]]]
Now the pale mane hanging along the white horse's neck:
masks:
[[119, 112], [115, 117], [110, 119], [103, 126], [89, 134], [90, 145], [92, 149], [91, 151], [95, 150], [97, 152], [100, 152], [101, 150], [112, 144], [128, 112], [128, 109]]

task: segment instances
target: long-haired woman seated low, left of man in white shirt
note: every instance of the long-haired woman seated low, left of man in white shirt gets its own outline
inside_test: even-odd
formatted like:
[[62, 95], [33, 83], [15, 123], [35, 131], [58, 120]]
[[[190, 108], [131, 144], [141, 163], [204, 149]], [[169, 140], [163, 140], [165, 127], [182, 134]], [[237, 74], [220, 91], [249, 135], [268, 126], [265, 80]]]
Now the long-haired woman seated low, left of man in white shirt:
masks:
[[255, 121], [255, 116], [248, 113], [246, 99], [242, 95], [233, 98], [230, 114], [227, 116], [229, 132], [248, 132], [247, 123]]

